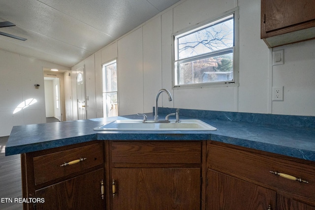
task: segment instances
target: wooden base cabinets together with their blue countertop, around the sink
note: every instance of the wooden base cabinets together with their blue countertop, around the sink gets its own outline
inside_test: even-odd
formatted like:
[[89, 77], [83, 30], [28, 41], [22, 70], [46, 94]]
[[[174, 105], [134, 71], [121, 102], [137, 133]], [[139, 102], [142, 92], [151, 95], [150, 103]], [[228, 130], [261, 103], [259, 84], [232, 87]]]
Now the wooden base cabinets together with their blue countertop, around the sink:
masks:
[[218, 130], [93, 130], [137, 115], [13, 127], [6, 155], [21, 153], [23, 197], [45, 199], [24, 208], [315, 210], [314, 117], [181, 109], [181, 118]]

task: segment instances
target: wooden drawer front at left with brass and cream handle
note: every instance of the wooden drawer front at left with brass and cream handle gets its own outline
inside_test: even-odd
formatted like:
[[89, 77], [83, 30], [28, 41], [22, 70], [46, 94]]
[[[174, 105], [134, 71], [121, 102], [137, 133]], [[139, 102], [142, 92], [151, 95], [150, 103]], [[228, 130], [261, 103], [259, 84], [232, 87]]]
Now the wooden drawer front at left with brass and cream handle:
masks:
[[[71, 161], [77, 163], [71, 164]], [[63, 165], [70, 163], [69, 165]], [[72, 162], [73, 163], [73, 162]], [[103, 142], [33, 157], [35, 185], [103, 163]], [[63, 165], [63, 166], [62, 166]]]

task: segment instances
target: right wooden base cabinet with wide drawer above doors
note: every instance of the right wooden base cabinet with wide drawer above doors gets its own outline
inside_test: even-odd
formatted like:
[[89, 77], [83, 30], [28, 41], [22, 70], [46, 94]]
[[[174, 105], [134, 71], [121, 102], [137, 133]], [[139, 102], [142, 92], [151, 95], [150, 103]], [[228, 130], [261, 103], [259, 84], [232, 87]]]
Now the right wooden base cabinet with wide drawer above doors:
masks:
[[[312, 161], [212, 142], [207, 146], [207, 169], [209, 210], [267, 210], [269, 205], [272, 210], [315, 208]], [[271, 173], [275, 171], [308, 183]]]

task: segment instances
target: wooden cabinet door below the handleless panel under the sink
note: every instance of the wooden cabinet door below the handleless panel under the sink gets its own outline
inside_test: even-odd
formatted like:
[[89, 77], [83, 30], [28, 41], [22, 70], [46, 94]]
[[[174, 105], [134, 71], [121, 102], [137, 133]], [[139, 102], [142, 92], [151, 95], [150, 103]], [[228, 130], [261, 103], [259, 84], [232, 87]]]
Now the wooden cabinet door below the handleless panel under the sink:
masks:
[[200, 168], [114, 168], [112, 210], [198, 210]]

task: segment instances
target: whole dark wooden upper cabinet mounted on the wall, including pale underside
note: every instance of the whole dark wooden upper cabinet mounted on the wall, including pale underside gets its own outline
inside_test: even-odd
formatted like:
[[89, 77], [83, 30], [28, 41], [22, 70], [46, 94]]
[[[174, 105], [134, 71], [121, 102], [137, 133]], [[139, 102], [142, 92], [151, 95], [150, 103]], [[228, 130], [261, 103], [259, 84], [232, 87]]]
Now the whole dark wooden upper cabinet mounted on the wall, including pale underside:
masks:
[[261, 0], [260, 37], [269, 48], [315, 38], [315, 1]]

